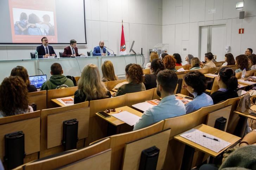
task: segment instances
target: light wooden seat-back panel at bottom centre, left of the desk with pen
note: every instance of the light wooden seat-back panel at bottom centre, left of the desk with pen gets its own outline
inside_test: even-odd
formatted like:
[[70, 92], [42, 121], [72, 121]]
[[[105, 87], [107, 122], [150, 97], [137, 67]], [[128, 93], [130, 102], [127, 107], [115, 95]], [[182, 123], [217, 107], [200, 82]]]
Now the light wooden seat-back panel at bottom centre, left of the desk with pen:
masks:
[[156, 134], [132, 142], [127, 142], [124, 148], [122, 169], [139, 169], [141, 152], [147, 148], [155, 146], [160, 149], [156, 169], [161, 170], [164, 166], [170, 132], [171, 129], [166, 129]]

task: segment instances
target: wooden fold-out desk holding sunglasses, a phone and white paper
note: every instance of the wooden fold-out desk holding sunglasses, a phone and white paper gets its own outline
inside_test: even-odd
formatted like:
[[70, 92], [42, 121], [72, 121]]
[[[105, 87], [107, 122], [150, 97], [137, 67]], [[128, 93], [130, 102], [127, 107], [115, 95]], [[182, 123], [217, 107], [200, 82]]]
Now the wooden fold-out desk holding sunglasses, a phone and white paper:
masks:
[[[123, 107], [120, 107], [120, 108], [116, 108], [116, 112], [110, 112], [110, 113], [108, 113], [108, 114], [109, 114], [109, 115], [115, 114], [115, 113], [117, 113], [119, 110], [128, 111], [128, 112], [130, 112], [130, 113], [132, 113], [132, 114], [134, 114], [134, 115], [137, 115], [137, 116], [139, 116], [139, 117], [141, 117], [141, 116], [143, 115], [143, 113], [140, 113], [139, 111], [137, 111], [137, 110], [135, 110], [135, 109], [133, 109], [133, 108], [130, 108], [130, 107], [128, 107], [128, 106], [123, 106]], [[105, 121], [107, 121], [107, 122], [113, 124], [114, 126], [119, 126], [119, 125], [121, 125], [121, 124], [125, 124], [123, 121], [120, 121], [119, 119], [117, 119], [117, 118], [115, 118], [115, 117], [113, 117], [113, 116], [111, 116], [111, 117], [109, 117], [109, 118], [105, 118], [105, 117], [99, 115], [98, 113], [96, 113], [96, 115], [99, 116], [100, 118], [104, 119]]]

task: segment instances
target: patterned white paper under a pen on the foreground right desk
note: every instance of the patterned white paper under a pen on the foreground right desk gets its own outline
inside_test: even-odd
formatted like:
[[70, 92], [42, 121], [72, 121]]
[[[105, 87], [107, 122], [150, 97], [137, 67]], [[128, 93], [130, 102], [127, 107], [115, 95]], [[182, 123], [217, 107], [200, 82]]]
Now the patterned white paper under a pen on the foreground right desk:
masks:
[[[203, 135], [211, 137], [211, 138], [215, 138], [218, 141], [206, 138]], [[213, 135], [207, 134], [205, 132], [202, 132], [198, 129], [191, 129], [189, 131], [184, 132], [180, 136], [184, 137], [187, 140], [190, 140], [194, 143], [197, 143], [197, 144], [199, 144], [199, 145], [201, 145], [201, 146], [203, 146], [207, 149], [210, 149], [210, 150], [212, 150], [216, 153], [218, 153], [219, 151], [221, 151], [222, 149], [226, 148], [228, 145], [231, 144], [231, 143], [226, 142], [226, 141], [224, 141], [224, 140], [222, 140], [222, 139], [220, 139], [216, 136], [213, 136]]]

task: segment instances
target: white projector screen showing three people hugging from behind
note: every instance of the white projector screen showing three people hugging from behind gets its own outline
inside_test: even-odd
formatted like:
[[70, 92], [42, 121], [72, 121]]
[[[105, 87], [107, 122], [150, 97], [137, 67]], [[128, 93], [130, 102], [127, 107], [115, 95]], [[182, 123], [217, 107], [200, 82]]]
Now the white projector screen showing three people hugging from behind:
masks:
[[0, 44], [87, 44], [84, 0], [0, 0]]

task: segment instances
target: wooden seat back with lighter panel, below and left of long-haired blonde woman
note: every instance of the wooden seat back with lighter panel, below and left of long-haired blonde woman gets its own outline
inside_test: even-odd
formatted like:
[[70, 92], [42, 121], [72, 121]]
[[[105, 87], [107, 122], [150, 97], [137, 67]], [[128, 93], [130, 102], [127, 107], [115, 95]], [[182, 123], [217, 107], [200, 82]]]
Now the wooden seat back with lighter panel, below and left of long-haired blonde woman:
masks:
[[76, 118], [78, 120], [77, 148], [84, 146], [84, 138], [88, 137], [89, 130], [89, 102], [71, 106], [42, 110], [41, 114], [41, 144], [40, 158], [63, 151], [62, 132], [63, 121]]

